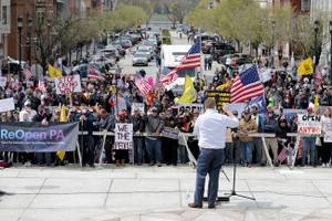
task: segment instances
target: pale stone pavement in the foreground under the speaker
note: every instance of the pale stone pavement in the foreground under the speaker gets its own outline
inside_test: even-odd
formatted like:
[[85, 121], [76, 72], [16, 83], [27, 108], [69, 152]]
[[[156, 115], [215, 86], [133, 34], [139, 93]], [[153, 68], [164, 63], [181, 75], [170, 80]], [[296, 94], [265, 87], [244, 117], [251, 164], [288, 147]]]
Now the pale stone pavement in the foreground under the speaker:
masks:
[[[231, 178], [232, 168], [226, 167]], [[239, 168], [238, 193], [217, 209], [189, 209], [195, 170], [76, 166], [0, 170], [2, 221], [331, 220], [331, 168]], [[231, 189], [220, 176], [220, 193]], [[206, 208], [206, 204], [205, 204]]]

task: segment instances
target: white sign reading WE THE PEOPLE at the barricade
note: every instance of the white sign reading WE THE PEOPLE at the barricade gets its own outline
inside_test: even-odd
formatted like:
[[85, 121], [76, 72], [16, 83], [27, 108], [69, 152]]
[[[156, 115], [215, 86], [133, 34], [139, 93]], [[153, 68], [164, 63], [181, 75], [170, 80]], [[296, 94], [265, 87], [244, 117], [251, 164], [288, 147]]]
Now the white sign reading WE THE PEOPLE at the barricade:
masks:
[[115, 125], [114, 149], [133, 149], [133, 124]]

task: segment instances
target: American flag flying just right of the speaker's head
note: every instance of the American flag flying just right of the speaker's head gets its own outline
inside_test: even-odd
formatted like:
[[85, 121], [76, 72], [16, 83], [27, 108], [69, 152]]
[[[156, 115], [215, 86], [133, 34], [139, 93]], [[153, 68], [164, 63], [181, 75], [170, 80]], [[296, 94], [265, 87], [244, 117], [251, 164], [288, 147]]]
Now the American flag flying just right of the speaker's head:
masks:
[[262, 96], [262, 86], [256, 65], [241, 72], [230, 88], [230, 103], [245, 103], [253, 97]]

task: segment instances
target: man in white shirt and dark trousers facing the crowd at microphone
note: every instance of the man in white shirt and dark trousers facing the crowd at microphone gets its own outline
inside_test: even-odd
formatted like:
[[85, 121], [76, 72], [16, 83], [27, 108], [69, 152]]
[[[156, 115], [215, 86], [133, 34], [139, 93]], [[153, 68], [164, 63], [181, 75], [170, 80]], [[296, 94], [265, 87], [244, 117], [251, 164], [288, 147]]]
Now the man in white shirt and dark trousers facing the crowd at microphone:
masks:
[[203, 208], [205, 178], [209, 173], [208, 208], [214, 209], [218, 194], [219, 172], [224, 161], [224, 148], [227, 128], [239, 126], [239, 120], [227, 108], [222, 107], [226, 115], [216, 110], [216, 102], [208, 98], [205, 102], [206, 112], [197, 118], [194, 134], [198, 137], [200, 154], [197, 160], [196, 190], [190, 208]]

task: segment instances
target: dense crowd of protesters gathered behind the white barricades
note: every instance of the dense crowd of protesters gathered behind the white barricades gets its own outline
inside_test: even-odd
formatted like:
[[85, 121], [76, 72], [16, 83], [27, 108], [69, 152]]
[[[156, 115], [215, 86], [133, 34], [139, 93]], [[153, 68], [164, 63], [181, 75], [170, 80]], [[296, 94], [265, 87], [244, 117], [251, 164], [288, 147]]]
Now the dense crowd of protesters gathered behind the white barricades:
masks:
[[[207, 61], [208, 64], [208, 61]], [[207, 65], [207, 69], [210, 69]], [[75, 73], [72, 73], [75, 74]], [[136, 73], [141, 77], [145, 72]], [[231, 83], [238, 70], [220, 69], [216, 71], [212, 82], [204, 78], [195, 81], [197, 103], [203, 103], [207, 90], [216, 90], [219, 85]], [[59, 95], [52, 82], [46, 83], [42, 91], [37, 78], [32, 84], [17, 81], [17, 76], [8, 76], [7, 85], [0, 87], [0, 98], [13, 97], [15, 110], [1, 113], [1, 123], [10, 122], [40, 122], [49, 124], [60, 120], [61, 106], [68, 109], [69, 122], [80, 122], [81, 130], [87, 135], [79, 137], [83, 155], [83, 166], [91, 166], [98, 161], [100, 155], [105, 164], [125, 164], [158, 166], [162, 164], [177, 166], [188, 162], [186, 145], [194, 157], [198, 157], [199, 147], [195, 137], [187, 140], [160, 137], [164, 127], [176, 128], [181, 133], [193, 133], [195, 120], [199, 112], [178, 112], [176, 95], [172, 91], [153, 91], [142, 96], [134, 83], [135, 74], [122, 75], [110, 71], [106, 81], [82, 81], [82, 93]], [[231, 84], [229, 84], [231, 85]], [[229, 90], [227, 86], [225, 91]], [[225, 164], [234, 162], [234, 151], [237, 161], [242, 166], [253, 164], [267, 165], [267, 156], [260, 137], [251, 137], [250, 133], [276, 134], [276, 138], [267, 138], [266, 144], [271, 152], [276, 166], [279, 166], [278, 156], [284, 146], [293, 149], [294, 138], [287, 134], [297, 131], [297, 118], [289, 118], [283, 109], [305, 109], [309, 115], [323, 115], [322, 131], [332, 124], [332, 88], [324, 76], [320, 82], [314, 75], [295, 78], [286, 71], [273, 72], [271, 78], [264, 82], [266, 113], [258, 113], [258, 106], [246, 108], [243, 113], [234, 113], [240, 119], [237, 129], [227, 131], [225, 148]], [[145, 110], [132, 108], [133, 103], [144, 103]], [[324, 108], [314, 108], [310, 103]], [[220, 110], [221, 112], [221, 110]], [[319, 113], [320, 112], [320, 113]], [[102, 151], [103, 138], [93, 135], [93, 131], [114, 131], [116, 123], [132, 123], [134, 130], [133, 150], [114, 150], [114, 137], [107, 136], [105, 151]], [[146, 134], [146, 136], [139, 136]], [[225, 135], [220, 135], [225, 136]], [[331, 166], [332, 144], [324, 143], [323, 137], [303, 137], [302, 150], [299, 152], [297, 165]], [[66, 152], [60, 160], [52, 152], [2, 152], [1, 157], [8, 162], [23, 165], [66, 165], [77, 161], [76, 152]], [[308, 158], [309, 157], [309, 158]], [[310, 160], [308, 160], [310, 159]]]

